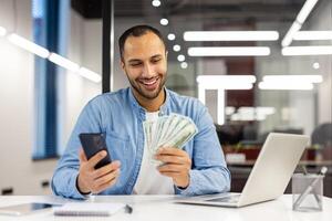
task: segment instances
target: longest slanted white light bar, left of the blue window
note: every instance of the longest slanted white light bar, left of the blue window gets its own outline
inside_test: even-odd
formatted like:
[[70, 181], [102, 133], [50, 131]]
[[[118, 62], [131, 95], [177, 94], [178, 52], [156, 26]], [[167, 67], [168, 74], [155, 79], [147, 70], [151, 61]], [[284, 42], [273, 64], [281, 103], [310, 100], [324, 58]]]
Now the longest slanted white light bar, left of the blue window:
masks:
[[18, 34], [10, 34], [8, 36], [8, 40], [11, 43], [13, 43], [13, 44], [15, 44], [15, 45], [18, 45], [18, 46], [20, 46], [20, 48], [22, 48], [22, 49], [31, 52], [31, 53], [33, 53], [35, 55], [39, 55], [39, 56], [41, 56], [43, 59], [46, 59], [50, 55], [49, 50], [46, 50], [46, 49], [44, 49], [44, 48], [42, 48], [42, 46], [40, 46], [40, 45], [38, 45], [38, 44], [35, 44], [35, 43], [27, 40], [27, 39], [18, 35]]

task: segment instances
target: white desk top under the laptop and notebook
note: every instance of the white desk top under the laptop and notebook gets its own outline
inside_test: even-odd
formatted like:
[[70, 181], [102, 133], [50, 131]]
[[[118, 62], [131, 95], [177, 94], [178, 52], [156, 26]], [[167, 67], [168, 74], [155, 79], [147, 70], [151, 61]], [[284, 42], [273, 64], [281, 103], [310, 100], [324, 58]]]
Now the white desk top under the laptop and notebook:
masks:
[[[187, 206], [173, 202], [173, 196], [110, 196], [95, 197], [97, 202], [125, 202], [133, 206], [132, 214], [118, 212], [107, 218], [89, 218], [89, 217], [54, 217], [51, 210], [24, 215], [24, 217], [6, 217], [0, 215], [0, 221], [20, 221], [20, 220], [54, 220], [54, 221], [102, 221], [102, 220], [135, 220], [135, 221], [331, 221], [332, 220], [332, 199], [323, 199], [322, 212], [294, 212], [291, 208], [291, 196], [282, 196], [278, 200], [253, 204], [240, 209]], [[0, 197], [0, 207], [17, 204], [21, 202], [58, 202], [63, 203], [66, 199], [51, 196], [14, 196]]]

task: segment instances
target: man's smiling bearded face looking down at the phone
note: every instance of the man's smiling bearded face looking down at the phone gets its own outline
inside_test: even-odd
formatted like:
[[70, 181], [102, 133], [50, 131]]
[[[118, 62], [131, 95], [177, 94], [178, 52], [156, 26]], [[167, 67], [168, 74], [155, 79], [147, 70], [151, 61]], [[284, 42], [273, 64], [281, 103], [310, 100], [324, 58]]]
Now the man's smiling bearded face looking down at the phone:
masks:
[[162, 40], [153, 32], [129, 36], [121, 62], [128, 81], [141, 97], [156, 98], [167, 75], [167, 52]]

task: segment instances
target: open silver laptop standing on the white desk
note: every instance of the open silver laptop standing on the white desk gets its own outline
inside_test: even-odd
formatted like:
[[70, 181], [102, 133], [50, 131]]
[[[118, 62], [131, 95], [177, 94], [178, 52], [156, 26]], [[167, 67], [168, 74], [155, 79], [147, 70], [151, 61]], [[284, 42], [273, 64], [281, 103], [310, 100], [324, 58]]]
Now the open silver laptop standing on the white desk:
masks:
[[273, 200], [283, 194], [309, 144], [309, 136], [270, 133], [241, 193], [180, 198], [179, 203], [239, 208]]

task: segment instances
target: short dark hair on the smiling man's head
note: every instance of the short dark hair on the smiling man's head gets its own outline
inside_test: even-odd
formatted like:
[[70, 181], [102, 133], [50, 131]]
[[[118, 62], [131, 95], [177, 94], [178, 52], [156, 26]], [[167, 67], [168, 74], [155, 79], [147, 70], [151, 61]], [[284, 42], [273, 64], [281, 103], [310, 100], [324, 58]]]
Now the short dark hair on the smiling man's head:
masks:
[[126, 43], [126, 40], [129, 36], [142, 36], [146, 34], [147, 32], [153, 32], [156, 34], [163, 42], [165, 50], [166, 50], [166, 41], [163, 36], [163, 34], [155, 28], [146, 25], [146, 24], [141, 24], [141, 25], [135, 25], [132, 27], [131, 29], [126, 30], [118, 39], [118, 49], [120, 49], [120, 55], [121, 60], [123, 60], [123, 53], [124, 53], [124, 45]]

